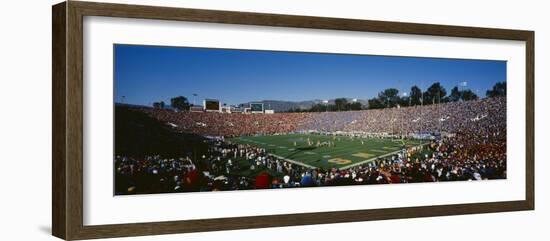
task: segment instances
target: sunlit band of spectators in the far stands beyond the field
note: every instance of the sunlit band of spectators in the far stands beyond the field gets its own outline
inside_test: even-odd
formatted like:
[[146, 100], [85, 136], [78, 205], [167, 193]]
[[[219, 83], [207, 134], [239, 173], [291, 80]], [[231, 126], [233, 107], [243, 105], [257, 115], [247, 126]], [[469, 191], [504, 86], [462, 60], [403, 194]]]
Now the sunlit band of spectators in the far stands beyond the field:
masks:
[[[227, 114], [142, 109], [177, 129], [205, 136], [246, 136], [315, 130], [410, 135], [455, 133], [464, 128], [504, 129], [506, 98], [449, 102], [428, 106], [342, 112]], [[494, 123], [490, 123], [494, 122]]]

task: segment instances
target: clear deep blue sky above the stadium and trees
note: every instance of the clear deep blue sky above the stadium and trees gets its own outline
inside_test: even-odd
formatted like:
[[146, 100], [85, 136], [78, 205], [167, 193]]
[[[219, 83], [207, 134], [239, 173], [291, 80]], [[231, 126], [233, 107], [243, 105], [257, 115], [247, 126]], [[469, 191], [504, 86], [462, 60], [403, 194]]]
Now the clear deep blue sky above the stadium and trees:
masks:
[[227, 104], [254, 100], [369, 99], [386, 88], [447, 93], [467, 81], [485, 91], [506, 81], [506, 62], [372, 55], [115, 45], [115, 101], [150, 105], [186, 96]]

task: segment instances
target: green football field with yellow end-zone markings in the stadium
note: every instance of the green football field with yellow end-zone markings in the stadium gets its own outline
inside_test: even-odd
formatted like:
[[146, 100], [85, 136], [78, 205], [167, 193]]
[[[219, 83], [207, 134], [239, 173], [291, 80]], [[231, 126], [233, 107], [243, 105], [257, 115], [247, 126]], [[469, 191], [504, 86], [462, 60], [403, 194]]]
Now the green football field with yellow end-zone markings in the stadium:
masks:
[[[391, 155], [399, 152], [403, 146], [422, 144], [418, 140], [351, 138], [317, 134], [243, 136], [229, 140], [264, 148], [271, 155], [302, 166], [340, 169]], [[324, 143], [324, 145], [321, 146], [318, 143]]]

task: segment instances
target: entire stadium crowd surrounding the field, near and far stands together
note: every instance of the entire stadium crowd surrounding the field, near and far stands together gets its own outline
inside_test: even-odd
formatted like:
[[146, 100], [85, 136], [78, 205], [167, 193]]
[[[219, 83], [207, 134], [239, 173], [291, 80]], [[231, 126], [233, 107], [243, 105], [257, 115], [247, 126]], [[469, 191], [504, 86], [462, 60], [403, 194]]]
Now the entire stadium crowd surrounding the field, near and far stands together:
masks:
[[[275, 114], [176, 113], [143, 110], [180, 131], [241, 136], [317, 130], [426, 132], [429, 145], [340, 170], [281, 160], [265, 149], [209, 139], [207, 155], [115, 158], [117, 194], [243, 190], [506, 178], [506, 99], [486, 98], [405, 108]], [[241, 175], [243, 171], [255, 176]]]

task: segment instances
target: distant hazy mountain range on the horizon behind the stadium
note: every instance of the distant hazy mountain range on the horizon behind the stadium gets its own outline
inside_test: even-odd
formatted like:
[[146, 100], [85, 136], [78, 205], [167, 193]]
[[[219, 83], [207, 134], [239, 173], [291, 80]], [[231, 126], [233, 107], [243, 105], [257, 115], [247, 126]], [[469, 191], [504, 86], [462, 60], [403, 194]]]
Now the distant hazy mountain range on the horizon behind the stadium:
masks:
[[[346, 98], [348, 102], [352, 102], [352, 98]], [[333, 105], [335, 99], [328, 100], [328, 104]], [[366, 106], [367, 100], [357, 99], [357, 102]], [[274, 110], [275, 112], [284, 112], [292, 109], [310, 109], [313, 105], [323, 104], [323, 100], [305, 100], [305, 101], [283, 101], [283, 100], [259, 100], [242, 103], [242, 106], [249, 106], [250, 103], [263, 103], [264, 109]]]

